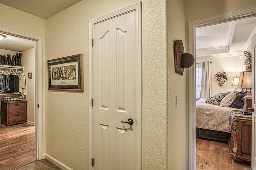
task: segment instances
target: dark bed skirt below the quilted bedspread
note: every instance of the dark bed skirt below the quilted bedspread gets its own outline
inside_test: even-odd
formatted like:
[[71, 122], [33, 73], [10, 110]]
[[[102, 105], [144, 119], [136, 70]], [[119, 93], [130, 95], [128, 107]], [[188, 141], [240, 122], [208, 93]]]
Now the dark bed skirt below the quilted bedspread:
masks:
[[196, 128], [196, 137], [217, 141], [229, 141], [231, 133]]

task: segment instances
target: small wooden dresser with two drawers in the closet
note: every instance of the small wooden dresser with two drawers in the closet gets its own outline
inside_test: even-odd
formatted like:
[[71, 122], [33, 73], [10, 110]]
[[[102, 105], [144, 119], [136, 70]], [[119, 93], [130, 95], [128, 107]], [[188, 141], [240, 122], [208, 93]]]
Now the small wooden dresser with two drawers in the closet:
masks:
[[27, 122], [27, 101], [1, 101], [1, 121], [6, 126]]

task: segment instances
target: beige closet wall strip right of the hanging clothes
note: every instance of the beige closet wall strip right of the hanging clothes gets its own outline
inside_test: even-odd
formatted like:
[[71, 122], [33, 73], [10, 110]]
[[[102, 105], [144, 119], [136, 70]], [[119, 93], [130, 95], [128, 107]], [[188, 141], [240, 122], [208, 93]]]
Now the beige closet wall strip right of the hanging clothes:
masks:
[[[27, 120], [34, 123], [34, 80], [36, 78], [34, 73], [34, 60], [36, 57], [36, 48], [22, 51], [21, 64], [24, 66], [24, 75], [26, 78], [26, 100], [27, 104]], [[28, 73], [32, 72], [32, 79], [28, 78]]]

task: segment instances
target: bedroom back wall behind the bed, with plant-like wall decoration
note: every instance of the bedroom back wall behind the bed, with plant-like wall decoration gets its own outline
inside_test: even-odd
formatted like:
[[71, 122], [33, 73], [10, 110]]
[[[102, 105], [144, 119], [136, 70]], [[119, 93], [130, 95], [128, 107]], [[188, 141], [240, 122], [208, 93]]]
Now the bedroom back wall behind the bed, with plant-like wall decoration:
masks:
[[[211, 63], [211, 94], [214, 96], [218, 93], [223, 93], [226, 91], [234, 91], [235, 87], [231, 86], [232, 77], [239, 77], [239, 73], [243, 71], [244, 60], [240, 57], [211, 57], [210, 59], [196, 59], [196, 63], [201, 63], [205, 61], [212, 61]], [[217, 72], [226, 72], [228, 75], [228, 80], [225, 84], [220, 87], [216, 82], [215, 75]], [[238, 89], [239, 91], [241, 89]]]

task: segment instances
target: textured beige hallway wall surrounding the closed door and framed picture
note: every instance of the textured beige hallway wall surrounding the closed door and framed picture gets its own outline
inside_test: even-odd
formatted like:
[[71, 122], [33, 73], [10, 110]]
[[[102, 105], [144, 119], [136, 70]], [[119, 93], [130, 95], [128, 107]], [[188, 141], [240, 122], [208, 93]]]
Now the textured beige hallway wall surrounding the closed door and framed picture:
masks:
[[[137, 2], [82, 0], [46, 20], [46, 61], [84, 55], [83, 93], [46, 90], [46, 154], [72, 169], [89, 168], [88, 23]], [[142, 167], [145, 170], [167, 169], [166, 35], [166, 0], [143, 0]]]

